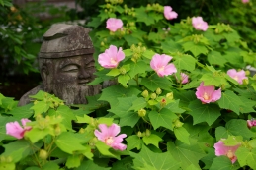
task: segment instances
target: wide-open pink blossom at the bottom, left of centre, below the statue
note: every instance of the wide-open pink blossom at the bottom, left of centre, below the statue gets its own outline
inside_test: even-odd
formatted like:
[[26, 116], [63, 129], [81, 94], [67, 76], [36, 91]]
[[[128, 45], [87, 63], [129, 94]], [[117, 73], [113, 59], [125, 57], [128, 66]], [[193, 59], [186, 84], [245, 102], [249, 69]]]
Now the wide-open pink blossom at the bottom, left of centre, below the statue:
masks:
[[112, 124], [110, 127], [107, 127], [106, 124], [99, 124], [99, 129], [101, 130], [95, 130], [94, 135], [98, 138], [98, 140], [105, 142], [107, 145], [113, 147], [116, 150], [125, 150], [127, 148], [127, 145], [121, 143], [124, 138], [127, 137], [126, 134], [121, 134], [117, 136], [120, 133], [120, 126], [117, 124]]

